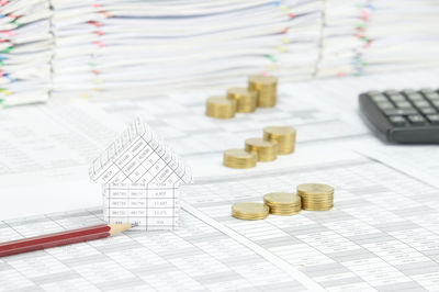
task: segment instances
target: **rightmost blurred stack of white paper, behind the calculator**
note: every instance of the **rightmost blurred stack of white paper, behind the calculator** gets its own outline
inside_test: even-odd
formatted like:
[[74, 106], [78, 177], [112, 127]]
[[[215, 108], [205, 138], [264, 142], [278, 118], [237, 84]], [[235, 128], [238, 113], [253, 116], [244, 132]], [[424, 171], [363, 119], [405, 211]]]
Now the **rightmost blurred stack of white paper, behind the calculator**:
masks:
[[365, 72], [438, 66], [438, 1], [369, 2], [371, 13], [364, 35], [371, 44], [361, 59]]

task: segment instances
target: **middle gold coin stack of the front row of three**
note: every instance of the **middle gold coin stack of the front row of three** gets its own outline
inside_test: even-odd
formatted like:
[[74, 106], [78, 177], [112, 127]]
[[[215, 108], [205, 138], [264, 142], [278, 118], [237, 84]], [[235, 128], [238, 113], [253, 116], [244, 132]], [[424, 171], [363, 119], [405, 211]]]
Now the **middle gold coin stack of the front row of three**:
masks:
[[272, 192], [263, 195], [263, 202], [274, 215], [294, 215], [301, 212], [301, 196], [295, 193]]

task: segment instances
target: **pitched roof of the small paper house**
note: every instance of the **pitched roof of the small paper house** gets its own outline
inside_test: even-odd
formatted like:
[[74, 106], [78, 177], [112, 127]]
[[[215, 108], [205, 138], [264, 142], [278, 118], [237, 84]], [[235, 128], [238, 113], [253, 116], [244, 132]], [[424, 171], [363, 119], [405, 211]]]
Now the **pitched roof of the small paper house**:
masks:
[[192, 182], [190, 168], [139, 119], [134, 121], [91, 165], [90, 179], [101, 183]]

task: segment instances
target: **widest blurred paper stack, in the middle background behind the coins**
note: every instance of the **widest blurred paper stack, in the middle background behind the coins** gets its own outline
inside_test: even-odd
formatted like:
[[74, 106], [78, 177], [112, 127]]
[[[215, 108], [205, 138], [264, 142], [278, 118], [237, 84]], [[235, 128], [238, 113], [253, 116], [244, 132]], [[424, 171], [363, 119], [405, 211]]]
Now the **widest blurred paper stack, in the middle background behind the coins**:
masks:
[[55, 98], [311, 78], [322, 1], [53, 1]]

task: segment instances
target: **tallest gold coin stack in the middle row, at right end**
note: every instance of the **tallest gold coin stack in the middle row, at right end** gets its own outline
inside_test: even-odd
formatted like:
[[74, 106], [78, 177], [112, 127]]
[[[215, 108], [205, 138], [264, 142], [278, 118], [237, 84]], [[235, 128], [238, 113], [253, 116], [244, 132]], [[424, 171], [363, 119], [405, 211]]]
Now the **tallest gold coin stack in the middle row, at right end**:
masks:
[[278, 143], [278, 154], [294, 151], [295, 128], [291, 126], [268, 126], [263, 130], [263, 139]]

